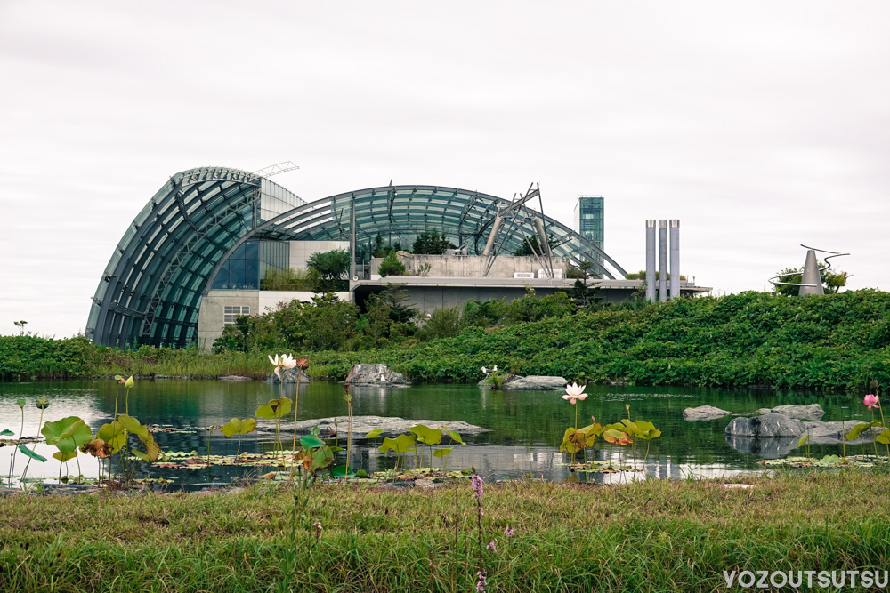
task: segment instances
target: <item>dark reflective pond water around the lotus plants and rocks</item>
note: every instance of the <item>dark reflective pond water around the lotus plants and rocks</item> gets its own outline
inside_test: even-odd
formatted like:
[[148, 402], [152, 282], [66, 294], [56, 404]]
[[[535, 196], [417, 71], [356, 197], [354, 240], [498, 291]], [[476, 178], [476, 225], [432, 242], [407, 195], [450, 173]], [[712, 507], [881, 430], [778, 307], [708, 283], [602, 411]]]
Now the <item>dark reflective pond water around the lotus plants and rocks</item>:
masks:
[[[50, 405], [44, 421], [55, 421], [77, 415], [95, 432], [109, 422], [115, 409], [115, 381], [61, 381], [0, 383], [0, 430], [11, 429], [18, 437], [20, 408], [16, 399], [25, 397], [24, 435], [37, 434], [40, 410], [36, 397], [46, 397]], [[295, 386], [286, 386], [285, 395], [293, 397]], [[718, 477], [758, 469], [760, 458], [743, 453], [727, 443], [724, 429], [732, 416], [716, 421], [687, 422], [683, 411], [687, 407], [714, 405], [732, 413], [754, 413], [758, 408], [785, 404], [818, 403], [825, 410], [824, 421], [870, 421], [861, 397], [851, 394], [805, 394], [774, 390], [697, 389], [628, 386], [588, 386], [589, 396], [578, 402], [578, 426], [589, 424], [595, 416], [601, 423], [620, 421], [627, 417], [626, 404], [631, 405], [634, 420], [651, 421], [662, 431], [661, 437], [651, 441], [649, 455], [643, 462], [645, 443], [637, 447], [637, 465], [651, 477]], [[118, 411], [124, 409], [125, 389], [121, 386]], [[334, 416], [344, 416], [344, 389], [335, 382], [312, 381], [300, 389], [299, 418], [317, 419], [322, 428], [331, 427]], [[143, 424], [155, 424], [175, 429], [157, 432], [155, 440], [165, 452], [206, 453], [210, 433], [206, 427], [223, 425], [231, 418], [254, 417], [257, 406], [279, 396], [279, 388], [262, 381], [225, 382], [194, 380], [142, 380], [129, 397], [129, 413]], [[408, 388], [353, 389], [352, 408], [355, 416], [398, 416], [409, 420], [466, 421], [489, 429], [476, 435], [464, 435], [466, 446], [455, 446], [449, 456], [449, 469], [475, 467], [486, 479], [511, 477], [543, 477], [562, 480], [570, 476], [568, 455], [559, 452], [565, 429], [575, 420], [575, 408], [562, 400], [561, 391], [496, 391], [475, 385], [422, 385]], [[290, 435], [287, 418], [282, 432]], [[851, 423], [852, 426], [852, 423]], [[345, 437], [345, 426], [339, 426], [340, 437]], [[392, 468], [393, 453], [380, 453], [376, 443], [353, 435], [355, 448], [352, 469], [368, 472]], [[15, 437], [13, 437], [15, 438]], [[285, 439], [287, 440], [287, 439]], [[257, 430], [242, 438], [240, 451], [259, 453], [274, 448], [274, 421], [258, 420]], [[343, 444], [342, 442], [340, 443]], [[214, 431], [211, 447], [214, 454], [235, 454], [238, 437], [226, 438]], [[813, 456], [840, 453], [838, 445], [813, 445]], [[0, 447], [0, 475], [8, 476], [12, 446]], [[37, 444], [36, 453], [48, 461], [32, 461], [28, 477], [44, 477], [46, 483], [56, 481], [60, 473], [59, 461], [52, 459], [54, 446]], [[869, 453], [865, 445], [848, 446], [847, 453]], [[621, 452], [629, 454], [629, 447]], [[344, 453], [341, 453], [343, 455]], [[619, 447], [598, 442], [595, 457], [617, 459]], [[793, 453], [799, 454], [799, 452]], [[428, 458], [427, 458], [428, 460]], [[27, 459], [17, 453], [16, 474]], [[69, 461], [63, 475], [96, 477], [98, 461], [85, 454], [77, 461]], [[436, 460], [437, 462], [439, 460]], [[338, 461], [342, 463], [343, 461]], [[428, 464], [429, 461], [425, 461]], [[409, 461], [409, 467], [411, 467]], [[269, 469], [240, 466], [211, 466], [209, 469], [165, 469], [139, 462], [136, 475], [163, 477], [173, 480], [172, 487], [229, 483], [232, 479], [255, 477]], [[623, 473], [593, 474], [582, 479], [614, 481], [628, 479]]]

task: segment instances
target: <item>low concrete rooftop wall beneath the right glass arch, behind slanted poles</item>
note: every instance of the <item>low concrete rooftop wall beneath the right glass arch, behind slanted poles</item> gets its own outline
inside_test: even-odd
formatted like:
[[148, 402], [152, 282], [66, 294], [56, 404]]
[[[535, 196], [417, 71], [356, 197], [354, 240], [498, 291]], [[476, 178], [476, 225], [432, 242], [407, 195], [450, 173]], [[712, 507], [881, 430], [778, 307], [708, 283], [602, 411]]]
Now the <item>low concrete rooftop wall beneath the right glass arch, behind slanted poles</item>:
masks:
[[[489, 258], [481, 255], [399, 255], [399, 261], [405, 264], [409, 276], [420, 276], [420, 268], [424, 263], [430, 264], [430, 271], [425, 276], [431, 278], [481, 278]], [[379, 274], [381, 258], [371, 260], [372, 277]], [[293, 265], [293, 264], [292, 264]], [[554, 269], [562, 269], [563, 274], [568, 264], [562, 258], [553, 259]], [[490, 278], [512, 278], [516, 272], [531, 272], [538, 277], [544, 266], [538, 258], [531, 256], [514, 257], [500, 255], [491, 266]]]

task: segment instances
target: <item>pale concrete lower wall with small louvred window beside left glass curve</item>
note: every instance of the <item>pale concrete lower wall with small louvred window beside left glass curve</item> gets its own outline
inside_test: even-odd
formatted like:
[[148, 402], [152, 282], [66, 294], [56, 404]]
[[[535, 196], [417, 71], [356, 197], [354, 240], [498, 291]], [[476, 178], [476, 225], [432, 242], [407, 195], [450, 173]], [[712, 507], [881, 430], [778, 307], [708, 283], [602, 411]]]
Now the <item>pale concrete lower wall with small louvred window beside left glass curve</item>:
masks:
[[[350, 292], [335, 292], [335, 294], [340, 301], [352, 301]], [[278, 309], [279, 303], [289, 303], [294, 300], [312, 301], [313, 296], [313, 292], [305, 291], [210, 291], [201, 301], [201, 312], [198, 315], [198, 347], [209, 350], [213, 348], [214, 341], [223, 335], [223, 315], [226, 305], [247, 306], [251, 315], [261, 315]]]

